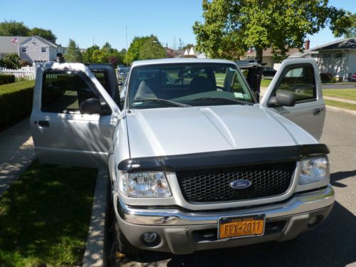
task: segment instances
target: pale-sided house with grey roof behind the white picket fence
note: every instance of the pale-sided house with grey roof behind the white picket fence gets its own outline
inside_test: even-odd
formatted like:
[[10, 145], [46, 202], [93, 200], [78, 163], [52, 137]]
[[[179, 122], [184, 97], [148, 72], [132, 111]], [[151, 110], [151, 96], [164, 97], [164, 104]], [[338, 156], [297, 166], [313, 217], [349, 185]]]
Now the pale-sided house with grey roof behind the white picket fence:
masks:
[[65, 53], [65, 49], [40, 36], [0, 36], [0, 58], [9, 53], [17, 53], [29, 63], [44, 63], [56, 61], [57, 53]]

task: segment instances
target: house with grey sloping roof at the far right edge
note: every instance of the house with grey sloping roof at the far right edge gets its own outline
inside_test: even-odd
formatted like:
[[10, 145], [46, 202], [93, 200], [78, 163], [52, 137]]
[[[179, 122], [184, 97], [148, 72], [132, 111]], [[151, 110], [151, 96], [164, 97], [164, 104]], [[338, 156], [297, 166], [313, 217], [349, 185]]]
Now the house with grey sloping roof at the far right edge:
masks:
[[[292, 55], [293, 57], [298, 55]], [[356, 38], [345, 38], [310, 48], [299, 57], [312, 57], [318, 62], [320, 73], [347, 80], [356, 73]]]

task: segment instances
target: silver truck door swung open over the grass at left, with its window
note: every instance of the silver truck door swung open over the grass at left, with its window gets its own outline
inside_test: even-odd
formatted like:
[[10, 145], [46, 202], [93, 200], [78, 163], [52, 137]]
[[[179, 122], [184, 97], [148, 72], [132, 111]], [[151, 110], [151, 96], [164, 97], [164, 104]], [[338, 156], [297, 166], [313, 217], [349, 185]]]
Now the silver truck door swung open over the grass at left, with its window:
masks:
[[46, 63], [37, 69], [30, 123], [41, 162], [108, 167], [119, 114], [85, 65]]

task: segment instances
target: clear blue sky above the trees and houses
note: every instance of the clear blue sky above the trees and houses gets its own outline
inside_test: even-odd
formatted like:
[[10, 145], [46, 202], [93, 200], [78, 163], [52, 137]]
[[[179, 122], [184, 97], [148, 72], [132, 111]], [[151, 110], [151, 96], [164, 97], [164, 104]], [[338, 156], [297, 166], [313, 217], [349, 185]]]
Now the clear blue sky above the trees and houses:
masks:
[[[356, 13], [355, 0], [329, 4]], [[108, 41], [121, 50], [133, 37], [150, 34], [171, 48], [174, 43], [179, 46], [179, 38], [185, 44], [195, 43], [192, 25], [203, 21], [201, 14], [201, 0], [0, 0], [1, 22], [23, 21], [30, 28], [51, 29], [58, 44], [67, 46], [72, 38], [80, 48]], [[310, 48], [337, 40], [327, 28], [308, 38]]]

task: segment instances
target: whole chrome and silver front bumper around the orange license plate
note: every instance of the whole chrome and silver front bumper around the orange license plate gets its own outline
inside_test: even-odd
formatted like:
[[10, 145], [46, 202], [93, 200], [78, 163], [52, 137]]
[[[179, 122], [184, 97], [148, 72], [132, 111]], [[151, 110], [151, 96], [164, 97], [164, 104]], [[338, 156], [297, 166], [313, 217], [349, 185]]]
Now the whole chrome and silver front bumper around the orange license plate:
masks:
[[[295, 194], [287, 201], [278, 204], [245, 207], [234, 210], [186, 211], [184, 209], [143, 209], [127, 206], [116, 199], [115, 213], [120, 229], [132, 245], [157, 251], [172, 253], [192, 253], [200, 249], [223, 248], [255, 244], [263, 241], [284, 241], [293, 239], [307, 229], [318, 224], [330, 213], [335, 201], [333, 188]], [[265, 236], [241, 239], [202, 239], [197, 238], [199, 231], [215, 231], [219, 218], [223, 216], [266, 215], [267, 224], [283, 221], [281, 231]], [[146, 231], [155, 231], [161, 237], [157, 246], [147, 247], [141, 236]], [[194, 236], [195, 235], [195, 236]], [[203, 235], [204, 236], [204, 235]]]

